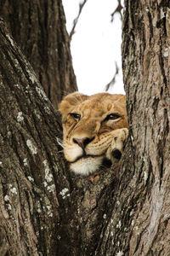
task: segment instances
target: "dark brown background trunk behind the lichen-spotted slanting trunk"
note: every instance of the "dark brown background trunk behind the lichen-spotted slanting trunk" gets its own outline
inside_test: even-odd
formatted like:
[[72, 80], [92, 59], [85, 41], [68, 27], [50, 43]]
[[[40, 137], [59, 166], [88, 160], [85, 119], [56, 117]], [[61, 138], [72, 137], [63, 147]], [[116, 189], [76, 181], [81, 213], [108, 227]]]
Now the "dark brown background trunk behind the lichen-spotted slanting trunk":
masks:
[[65, 94], [77, 90], [62, 2], [0, 0], [0, 16], [57, 108]]

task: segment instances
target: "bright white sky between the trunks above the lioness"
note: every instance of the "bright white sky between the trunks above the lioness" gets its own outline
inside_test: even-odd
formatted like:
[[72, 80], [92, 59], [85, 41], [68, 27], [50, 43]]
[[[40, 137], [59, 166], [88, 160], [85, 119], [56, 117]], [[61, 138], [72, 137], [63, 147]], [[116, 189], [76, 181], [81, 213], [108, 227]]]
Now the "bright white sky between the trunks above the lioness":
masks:
[[[77, 17], [80, 2], [63, 0], [68, 32]], [[116, 6], [116, 0], [88, 0], [82, 9], [71, 41], [73, 67], [78, 89], [82, 93], [90, 95], [105, 91], [105, 85], [111, 82], [116, 72], [115, 61], [118, 67], [122, 67], [120, 15], [116, 14], [111, 23], [111, 13]], [[116, 84], [110, 92], [124, 93], [122, 69], [119, 70]]]

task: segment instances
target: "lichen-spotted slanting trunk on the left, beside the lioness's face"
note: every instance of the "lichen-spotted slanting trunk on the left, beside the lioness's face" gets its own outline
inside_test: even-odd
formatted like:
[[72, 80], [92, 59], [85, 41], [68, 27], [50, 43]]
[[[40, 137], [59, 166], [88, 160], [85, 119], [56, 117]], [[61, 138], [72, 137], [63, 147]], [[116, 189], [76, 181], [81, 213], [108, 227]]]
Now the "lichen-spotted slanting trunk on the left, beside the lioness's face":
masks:
[[2, 21], [0, 60], [0, 244], [8, 255], [54, 255], [59, 117]]

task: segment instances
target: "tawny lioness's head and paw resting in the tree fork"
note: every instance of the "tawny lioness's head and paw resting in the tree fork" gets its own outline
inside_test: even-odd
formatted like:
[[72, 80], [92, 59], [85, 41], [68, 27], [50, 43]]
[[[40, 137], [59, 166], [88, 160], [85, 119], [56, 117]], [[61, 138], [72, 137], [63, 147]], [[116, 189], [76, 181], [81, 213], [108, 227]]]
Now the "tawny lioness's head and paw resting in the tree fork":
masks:
[[74, 92], [60, 102], [59, 111], [64, 154], [71, 171], [88, 175], [105, 159], [114, 162], [121, 158], [128, 132], [126, 96]]

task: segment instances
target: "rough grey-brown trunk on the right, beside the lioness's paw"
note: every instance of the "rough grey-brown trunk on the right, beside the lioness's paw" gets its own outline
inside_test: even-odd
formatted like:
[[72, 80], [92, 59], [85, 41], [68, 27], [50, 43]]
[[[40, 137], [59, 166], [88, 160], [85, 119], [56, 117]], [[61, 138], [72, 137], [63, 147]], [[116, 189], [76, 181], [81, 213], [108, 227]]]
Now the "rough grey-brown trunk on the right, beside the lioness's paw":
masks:
[[97, 250], [101, 255], [103, 248], [105, 255], [170, 252], [169, 10], [169, 1], [125, 1], [122, 66], [129, 138], [116, 207]]

